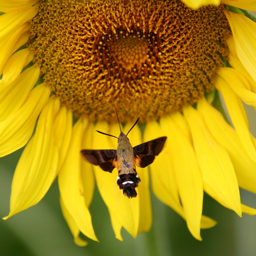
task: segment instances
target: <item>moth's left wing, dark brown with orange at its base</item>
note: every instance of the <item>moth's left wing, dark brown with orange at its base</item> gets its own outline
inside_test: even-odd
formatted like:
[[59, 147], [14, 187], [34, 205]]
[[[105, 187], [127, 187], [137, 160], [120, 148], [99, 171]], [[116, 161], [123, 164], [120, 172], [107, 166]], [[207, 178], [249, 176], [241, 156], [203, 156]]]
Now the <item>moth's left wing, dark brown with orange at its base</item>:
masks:
[[83, 149], [81, 150], [83, 156], [91, 164], [99, 165], [100, 168], [105, 172], [112, 172], [116, 167], [116, 150], [115, 149]]

